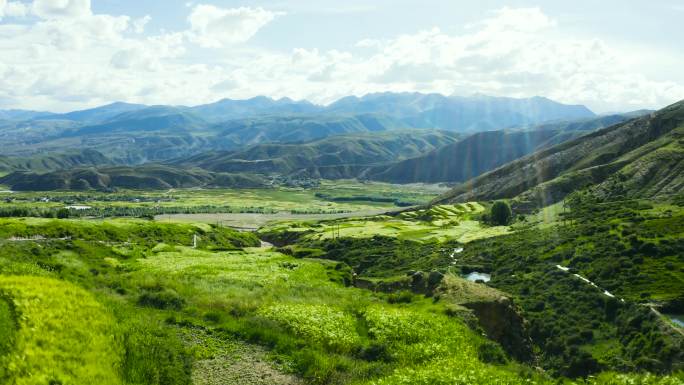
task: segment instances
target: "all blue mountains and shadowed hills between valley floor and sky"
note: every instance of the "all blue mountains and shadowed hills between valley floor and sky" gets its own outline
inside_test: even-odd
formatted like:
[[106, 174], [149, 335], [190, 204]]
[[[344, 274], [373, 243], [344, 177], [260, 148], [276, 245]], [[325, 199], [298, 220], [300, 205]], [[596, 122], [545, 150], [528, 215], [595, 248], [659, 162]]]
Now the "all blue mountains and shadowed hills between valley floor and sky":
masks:
[[[407, 117], [434, 111], [436, 106], [488, 111], [517, 108], [532, 111], [528, 116], [538, 119], [556, 117], [559, 111], [570, 117], [591, 116], [474, 132], [453, 127], [401, 128]], [[321, 113], [322, 109], [327, 112]], [[584, 107], [544, 98], [466, 99], [389, 93], [343, 98], [327, 107], [268, 98], [223, 100], [197, 107], [114, 103], [94, 110], [5, 121], [8, 134], [0, 142], [9, 142], [5, 148], [10, 155], [0, 158], [0, 171], [11, 174], [0, 183], [37, 190], [230, 186], [231, 181], [262, 186], [272, 177], [460, 183], [645, 113], [648, 111], [594, 116]], [[255, 116], [245, 117], [248, 114]], [[220, 120], [219, 116], [242, 118], [211, 122]], [[505, 121], [510, 116], [484, 115], [478, 127], [488, 127], [491, 117]], [[44, 137], [32, 127], [44, 129]], [[20, 156], [12, 155], [13, 149], [20, 149]], [[119, 178], [136, 172], [143, 177], [135, 183]], [[215, 182], [216, 178], [220, 182]], [[126, 182], [119, 183], [123, 180]]]

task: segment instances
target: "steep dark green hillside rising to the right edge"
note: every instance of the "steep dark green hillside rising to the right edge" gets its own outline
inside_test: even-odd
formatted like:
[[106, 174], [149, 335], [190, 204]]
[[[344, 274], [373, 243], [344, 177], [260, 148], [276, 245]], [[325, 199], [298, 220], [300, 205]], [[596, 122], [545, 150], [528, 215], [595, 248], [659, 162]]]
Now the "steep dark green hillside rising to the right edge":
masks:
[[548, 204], [592, 185], [605, 194], [671, 194], [684, 183], [683, 135], [684, 101], [511, 162], [455, 187], [437, 201], [519, 196]]

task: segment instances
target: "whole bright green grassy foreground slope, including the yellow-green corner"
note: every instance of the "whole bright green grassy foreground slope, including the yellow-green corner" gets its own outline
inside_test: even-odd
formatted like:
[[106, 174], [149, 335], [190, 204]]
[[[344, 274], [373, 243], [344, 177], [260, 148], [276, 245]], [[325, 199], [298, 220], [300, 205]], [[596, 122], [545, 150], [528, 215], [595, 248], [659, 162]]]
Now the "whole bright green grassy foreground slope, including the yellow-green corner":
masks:
[[[343, 263], [236, 249], [238, 242], [254, 244], [251, 234], [205, 229], [218, 234], [205, 235], [208, 243], [193, 249], [177, 239], [188, 225], [3, 223], [0, 291], [13, 305], [9, 313], [0, 308], [0, 319], [20, 316], [9, 333], [13, 342], [0, 343], [10, 346], [0, 359], [63, 349], [46, 374], [59, 375], [63, 384], [89, 383], [90, 374], [102, 377], [100, 383], [261, 383], [246, 375], [254, 371], [276, 384], [555, 383], [508, 360], [449, 310], [447, 297], [397, 303], [391, 295], [346, 287], [351, 270]], [[72, 229], [71, 238], [12, 238], [51, 227]], [[74, 234], [74, 227], [91, 230]], [[117, 231], [129, 232], [130, 242]], [[233, 250], [217, 250], [228, 243]], [[27, 325], [48, 330], [33, 333]], [[53, 336], [61, 340], [47, 349], [43, 339]], [[67, 343], [73, 338], [79, 341]], [[256, 354], [251, 346], [270, 353]], [[70, 365], [78, 367], [59, 369]], [[45, 383], [26, 372], [11, 375], [7, 383]], [[677, 376], [614, 374], [588, 381], [680, 382]]]

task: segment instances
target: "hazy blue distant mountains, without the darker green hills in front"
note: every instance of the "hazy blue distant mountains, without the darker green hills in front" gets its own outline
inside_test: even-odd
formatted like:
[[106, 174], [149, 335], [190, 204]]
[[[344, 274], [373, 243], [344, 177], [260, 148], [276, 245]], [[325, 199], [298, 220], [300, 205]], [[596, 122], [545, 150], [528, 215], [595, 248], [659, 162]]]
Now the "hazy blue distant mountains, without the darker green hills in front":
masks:
[[339, 134], [412, 128], [474, 133], [593, 116], [586, 107], [540, 97], [420, 93], [346, 97], [328, 106], [263, 96], [195, 107], [113, 103], [63, 114], [0, 111], [0, 145], [12, 156], [92, 149], [116, 163], [136, 165]]

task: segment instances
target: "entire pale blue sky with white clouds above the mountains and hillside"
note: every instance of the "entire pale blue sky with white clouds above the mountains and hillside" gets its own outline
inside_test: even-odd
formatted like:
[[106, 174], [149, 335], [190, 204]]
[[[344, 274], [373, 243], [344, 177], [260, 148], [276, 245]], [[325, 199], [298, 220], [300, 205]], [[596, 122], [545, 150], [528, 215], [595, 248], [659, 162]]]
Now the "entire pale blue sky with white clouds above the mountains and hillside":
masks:
[[371, 92], [684, 99], [684, 0], [0, 0], [0, 109]]

